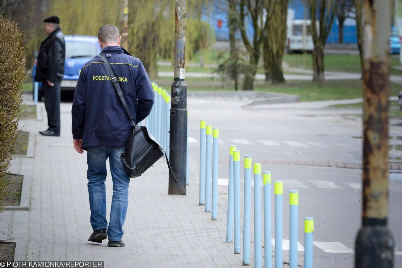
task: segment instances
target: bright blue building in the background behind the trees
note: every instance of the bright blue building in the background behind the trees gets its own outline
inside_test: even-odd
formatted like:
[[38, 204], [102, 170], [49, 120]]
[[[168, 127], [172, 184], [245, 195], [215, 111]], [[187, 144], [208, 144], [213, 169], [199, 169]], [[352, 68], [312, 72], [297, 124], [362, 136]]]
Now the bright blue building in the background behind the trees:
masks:
[[[211, 14], [204, 15], [203, 20], [209, 21], [210, 25], [215, 31], [216, 40], [229, 40], [229, 27], [228, 27], [228, 4], [226, 0], [215, 0], [211, 7]], [[354, 14], [350, 14], [354, 16]], [[301, 0], [290, 0], [288, 6], [288, 20], [293, 19], [310, 19], [309, 10]], [[250, 23], [246, 23], [247, 35], [252, 39], [254, 30]], [[240, 38], [240, 35], [237, 35]], [[335, 16], [330, 34], [328, 35], [327, 43], [338, 43], [339, 39], [339, 23], [338, 18]], [[343, 42], [344, 43], [357, 43], [356, 35], [356, 21], [354, 18], [347, 18], [343, 25]]]

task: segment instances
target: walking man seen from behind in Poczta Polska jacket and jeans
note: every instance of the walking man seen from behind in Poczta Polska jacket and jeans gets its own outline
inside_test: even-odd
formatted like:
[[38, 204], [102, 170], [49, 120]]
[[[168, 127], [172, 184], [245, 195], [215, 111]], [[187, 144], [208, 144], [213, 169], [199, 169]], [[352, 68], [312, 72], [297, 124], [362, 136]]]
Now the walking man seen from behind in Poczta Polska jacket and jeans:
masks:
[[[142, 62], [120, 47], [119, 29], [104, 25], [98, 31], [102, 54], [108, 58], [136, 124], [146, 118], [154, 104], [154, 90]], [[129, 176], [120, 158], [133, 132], [132, 123], [111, 83], [100, 57], [84, 64], [72, 106], [74, 149], [87, 151], [87, 178], [92, 235], [88, 241], [108, 247], [124, 247], [123, 224], [128, 205]], [[109, 158], [113, 197], [109, 225], [106, 219], [106, 160]]]

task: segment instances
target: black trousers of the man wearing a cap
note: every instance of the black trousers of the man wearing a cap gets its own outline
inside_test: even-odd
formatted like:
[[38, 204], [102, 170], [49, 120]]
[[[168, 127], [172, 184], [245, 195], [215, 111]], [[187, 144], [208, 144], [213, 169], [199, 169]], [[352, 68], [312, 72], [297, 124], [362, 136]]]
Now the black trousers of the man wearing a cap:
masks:
[[47, 125], [49, 130], [54, 131], [56, 134], [60, 134], [60, 83], [60, 81], [57, 81], [54, 82], [54, 86], [49, 86], [46, 81], [42, 82]]

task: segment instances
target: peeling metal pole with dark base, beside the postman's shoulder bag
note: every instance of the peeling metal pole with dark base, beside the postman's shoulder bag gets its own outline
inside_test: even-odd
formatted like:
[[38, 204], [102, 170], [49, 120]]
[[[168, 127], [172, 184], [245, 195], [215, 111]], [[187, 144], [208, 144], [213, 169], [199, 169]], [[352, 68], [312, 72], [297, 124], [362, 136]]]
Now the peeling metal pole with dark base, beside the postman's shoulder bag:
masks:
[[187, 167], [187, 84], [185, 82], [186, 0], [176, 0], [174, 31], [174, 81], [170, 108], [169, 194], [186, 194]]

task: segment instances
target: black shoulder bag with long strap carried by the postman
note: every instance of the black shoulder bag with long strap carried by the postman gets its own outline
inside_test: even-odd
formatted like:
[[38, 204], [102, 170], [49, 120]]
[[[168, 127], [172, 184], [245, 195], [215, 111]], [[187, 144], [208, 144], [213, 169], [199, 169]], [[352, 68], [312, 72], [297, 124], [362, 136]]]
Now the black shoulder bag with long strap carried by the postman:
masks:
[[117, 80], [109, 61], [102, 53], [98, 54], [98, 56], [105, 63], [112, 84], [115, 87], [121, 103], [123, 103], [124, 109], [133, 125], [133, 135], [131, 135], [123, 153], [121, 154], [121, 160], [123, 160], [124, 168], [127, 174], [129, 174], [130, 178], [137, 178], [141, 176], [146, 170], [148, 170], [148, 168], [150, 168], [163, 156], [163, 151], [165, 153], [166, 162], [168, 163], [169, 172], [172, 174], [174, 181], [177, 183], [176, 177], [174, 176], [172, 168], [170, 167], [166, 151], [158, 143], [155, 137], [148, 132], [146, 127], [137, 126], [134, 124], [123, 96], [123, 92], [121, 92], [119, 81]]

